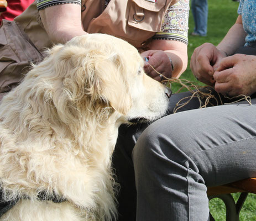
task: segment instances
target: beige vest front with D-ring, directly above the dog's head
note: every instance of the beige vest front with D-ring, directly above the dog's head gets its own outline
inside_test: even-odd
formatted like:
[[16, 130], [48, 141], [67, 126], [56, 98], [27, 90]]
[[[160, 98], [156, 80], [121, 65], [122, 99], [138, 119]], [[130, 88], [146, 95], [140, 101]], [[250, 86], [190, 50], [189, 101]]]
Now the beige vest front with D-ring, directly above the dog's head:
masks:
[[127, 40], [136, 48], [143, 48], [161, 30], [166, 10], [174, 0], [85, 0], [82, 12], [83, 27], [88, 33], [105, 33]]

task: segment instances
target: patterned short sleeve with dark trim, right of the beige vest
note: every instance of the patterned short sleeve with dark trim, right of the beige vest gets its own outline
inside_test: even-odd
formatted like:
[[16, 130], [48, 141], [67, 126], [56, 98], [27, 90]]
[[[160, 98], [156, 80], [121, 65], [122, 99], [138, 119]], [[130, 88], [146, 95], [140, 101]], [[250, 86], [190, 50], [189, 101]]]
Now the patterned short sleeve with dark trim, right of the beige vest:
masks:
[[180, 0], [170, 6], [163, 19], [161, 31], [153, 39], [175, 40], [187, 44], [189, 30], [189, 0]]

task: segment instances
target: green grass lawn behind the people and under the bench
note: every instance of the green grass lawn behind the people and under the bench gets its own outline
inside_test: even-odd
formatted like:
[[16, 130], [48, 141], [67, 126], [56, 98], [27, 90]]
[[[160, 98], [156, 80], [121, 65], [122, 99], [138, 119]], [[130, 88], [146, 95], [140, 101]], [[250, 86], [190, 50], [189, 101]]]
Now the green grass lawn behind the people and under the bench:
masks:
[[[226, 35], [228, 29], [234, 24], [237, 18], [238, 3], [231, 0], [208, 0], [208, 33], [206, 37], [190, 36], [188, 45], [189, 65], [187, 70], [182, 74], [181, 78], [190, 81], [196, 81], [192, 74], [190, 66], [190, 57], [197, 46], [205, 42], [214, 45], [220, 43], [221, 39]], [[191, 12], [190, 12], [191, 13]], [[194, 28], [194, 20], [190, 14], [189, 33]], [[172, 85], [174, 91], [180, 86]], [[239, 193], [232, 194], [237, 201]], [[221, 199], [215, 198], [210, 201], [210, 211], [216, 221], [226, 220], [226, 208]], [[249, 194], [240, 213], [240, 221], [256, 220], [256, 194]]]

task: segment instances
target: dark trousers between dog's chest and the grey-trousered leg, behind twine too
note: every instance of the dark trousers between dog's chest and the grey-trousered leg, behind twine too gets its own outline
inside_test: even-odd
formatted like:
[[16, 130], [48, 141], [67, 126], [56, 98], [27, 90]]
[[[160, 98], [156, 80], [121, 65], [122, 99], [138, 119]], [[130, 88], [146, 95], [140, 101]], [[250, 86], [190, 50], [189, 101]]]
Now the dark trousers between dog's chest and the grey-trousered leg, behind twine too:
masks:
[[[182, 100], [182, 103], [188, 101], [191, 97], [191, 92], [182, 92], [178, 94], [173, 94], [170, 98], [169, 108], [167, 115], [173, 114], [176, 104]], [[215, 94], [216, 98], [219, 98]], [[202, 102], [204, 102], [202, 100]], [[216, 105], [215, 100], [212, 100], [211, 103]], [[220, 100], [218, 104], [220, 104]], [[246, 102], [245, 102], [246, 103]], [[200, 102], [198, 98], [192, 98], [189, 103], [177, 110], [177, 112], [184, 112], [191, 109], [197, 109], [200, 107]], [[113, 153], [112, 167], [116, 173], [116, 181], [120, 184], [121, 188], [118, 193], [118, 212], [119, 212], [119, 221], [132, 221], [135, 220], [136, 215], [136, 189], [135, 189], [135, 180], [134, 180], [134, 168], [132, 161], [132, 151], [134, 145], [136, 144], [140, 134], [147, 128], [149, 125], [144, 124], [135, 124], [130, 125], [121, 125], [118, 133], [118, 140], [116, 148]]]

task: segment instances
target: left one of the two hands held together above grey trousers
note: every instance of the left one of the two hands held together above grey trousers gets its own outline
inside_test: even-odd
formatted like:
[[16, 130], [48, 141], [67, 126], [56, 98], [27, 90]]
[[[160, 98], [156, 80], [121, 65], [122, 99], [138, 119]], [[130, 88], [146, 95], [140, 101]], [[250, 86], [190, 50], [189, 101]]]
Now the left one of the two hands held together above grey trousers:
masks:
[[223, 57], [227, 55], [216, 48], [213, 44], [205, 43], [197, 47], [191, 56], [190, 69], [197, 80], [213, 85], [213, 73], [220, 65]]

